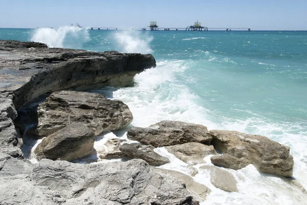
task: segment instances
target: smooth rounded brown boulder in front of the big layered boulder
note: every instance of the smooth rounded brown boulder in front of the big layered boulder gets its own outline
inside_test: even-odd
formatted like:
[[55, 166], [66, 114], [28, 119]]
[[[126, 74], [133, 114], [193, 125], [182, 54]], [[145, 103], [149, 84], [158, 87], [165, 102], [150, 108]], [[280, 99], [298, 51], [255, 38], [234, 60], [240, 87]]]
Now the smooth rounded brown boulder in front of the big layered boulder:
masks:
[[86, 125], [71, 123], [47, 136], [35, 148], [38, 159], [73, 161], [90, 155], [94, 149], [94, 132]]

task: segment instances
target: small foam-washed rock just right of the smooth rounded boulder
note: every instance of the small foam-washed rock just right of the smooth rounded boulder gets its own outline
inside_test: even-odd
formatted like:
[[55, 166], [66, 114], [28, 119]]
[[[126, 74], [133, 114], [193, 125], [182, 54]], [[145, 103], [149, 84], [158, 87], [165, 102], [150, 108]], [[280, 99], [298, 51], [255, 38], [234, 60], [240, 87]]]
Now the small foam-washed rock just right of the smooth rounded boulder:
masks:
[[108, 139], [104, 144], [105, 150], [99, 152], [99, 158], [108, 159], [108, 158], [122, 158], [127, 156], [119, 150], [120, 144], [126, 142], [126, 140], [121, 140], [118, 138]]

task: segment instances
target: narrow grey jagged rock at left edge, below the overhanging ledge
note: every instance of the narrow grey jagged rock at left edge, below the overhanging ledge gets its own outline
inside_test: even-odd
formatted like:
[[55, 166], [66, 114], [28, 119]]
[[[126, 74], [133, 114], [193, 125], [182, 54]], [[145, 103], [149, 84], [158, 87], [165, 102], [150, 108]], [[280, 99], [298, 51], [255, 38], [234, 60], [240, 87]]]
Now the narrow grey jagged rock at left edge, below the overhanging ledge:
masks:
[[14, 157], [22, 157], [20, 140], [13, 120], [17, 117], [17, 111], [10, 98], [0, 97], [0, 151]]

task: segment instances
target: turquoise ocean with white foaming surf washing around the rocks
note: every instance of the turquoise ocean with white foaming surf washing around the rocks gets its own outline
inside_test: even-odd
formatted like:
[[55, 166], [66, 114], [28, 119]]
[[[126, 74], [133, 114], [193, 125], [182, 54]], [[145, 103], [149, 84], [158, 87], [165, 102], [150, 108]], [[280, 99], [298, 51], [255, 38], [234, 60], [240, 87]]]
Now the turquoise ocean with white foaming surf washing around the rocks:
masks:
[[[306, 31], [60, 27], [0, 29], [0, 39], [99, 52], [150, 53], [157, 67], [136, 75], [134, 86], [90, 91], [126, 103], [134, 115], [133, 126], [180, 120], [205, 125], [209, 130], [260, 134], [287, 145], [294, 157], [293, 177], [307, 189]], [[105, 139], [115, 134], [108, 133]], [[121, 135], [125, 137], [124, 132]], [[164, 148], [156, 151], [171, 160], [161, 167], [191, 175], [187, 165]], [[205, 160], [210, 164], [210, 156]], [[297, 187], [283, 178], [259, 173], [252, 165], [228, 171], [238, 181], [238, 192], [213, 187], [206, 170], [193, 177], [211, 189], [201, 204], [307, 204], [307, 195]]]

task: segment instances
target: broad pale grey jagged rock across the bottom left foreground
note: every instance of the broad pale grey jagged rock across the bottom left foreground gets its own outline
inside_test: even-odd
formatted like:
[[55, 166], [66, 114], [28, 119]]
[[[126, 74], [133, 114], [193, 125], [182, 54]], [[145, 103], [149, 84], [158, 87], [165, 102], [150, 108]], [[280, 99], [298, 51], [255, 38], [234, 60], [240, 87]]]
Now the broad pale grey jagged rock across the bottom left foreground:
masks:
[[[14, 160], [20, 167], [29, 164]], [[4, 163], [0, 204], [199, 204], [181, 180], [156, 173], [143, 160], [107, 164], [41, 160], [31, 166], [2, 175], [15, 167]]]

